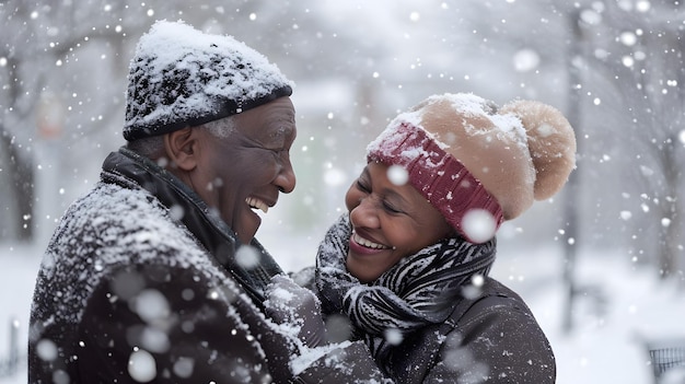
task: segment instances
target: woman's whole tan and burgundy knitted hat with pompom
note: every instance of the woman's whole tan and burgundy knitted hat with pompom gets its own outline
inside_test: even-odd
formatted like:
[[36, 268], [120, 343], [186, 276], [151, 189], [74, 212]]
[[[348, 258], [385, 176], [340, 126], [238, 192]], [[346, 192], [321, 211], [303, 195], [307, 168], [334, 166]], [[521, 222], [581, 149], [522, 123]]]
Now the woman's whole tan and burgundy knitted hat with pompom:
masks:
[[[400, 165], [408, 182], [473, 243], [555, 195], [576, 166], [576, 137], [561, 113], [534, 101], [502, 108], [466, 93], [433, 95], [398, 115], [367, 148]], [[476, 230], [469, 218], [487, 217]], [[487, 220], [486, 220], [487, 222]]]

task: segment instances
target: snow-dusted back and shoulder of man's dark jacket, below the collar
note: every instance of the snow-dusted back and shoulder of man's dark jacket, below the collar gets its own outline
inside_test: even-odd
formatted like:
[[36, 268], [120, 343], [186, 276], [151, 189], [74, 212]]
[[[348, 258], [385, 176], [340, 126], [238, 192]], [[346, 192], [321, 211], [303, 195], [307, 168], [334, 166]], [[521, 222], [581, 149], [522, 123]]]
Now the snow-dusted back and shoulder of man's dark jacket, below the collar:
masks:
[[101, 184], [44, 257], [30, 382], [262, 380], [270, 372], [236, 310], [248, 301], [152, 196]]

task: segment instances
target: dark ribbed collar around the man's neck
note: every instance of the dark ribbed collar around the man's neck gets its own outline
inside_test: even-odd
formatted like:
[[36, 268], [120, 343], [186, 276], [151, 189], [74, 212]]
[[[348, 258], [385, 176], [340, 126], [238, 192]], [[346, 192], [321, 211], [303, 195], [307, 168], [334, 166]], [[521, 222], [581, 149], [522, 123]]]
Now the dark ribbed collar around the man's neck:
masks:
[[272, 276], [282, 274], [282, 270], [256, 238], [251, 246], [258, 252], [259, 264], [246, 269], [235, 260], [235, 253], [242, 246], [235, 232], [177, 177], [125, 147], [105, 159], [101, 177], [104, 183], [124, 188], [144, 189], [167, 209], [181, 207], [184, 214], [178, 221], [235, 278], [255, 304], [263, 307], [266, 286]]

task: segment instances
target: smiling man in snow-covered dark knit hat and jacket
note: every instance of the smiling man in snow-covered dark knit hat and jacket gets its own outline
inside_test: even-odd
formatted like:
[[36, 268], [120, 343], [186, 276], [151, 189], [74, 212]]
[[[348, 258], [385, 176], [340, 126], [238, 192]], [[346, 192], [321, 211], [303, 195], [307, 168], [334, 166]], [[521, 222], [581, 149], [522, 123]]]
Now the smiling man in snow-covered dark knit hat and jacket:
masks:
[[[359, 345], [295, 366], [293, 356], [316, 345], [263, 314], [281, 270], [254, 238], [254, 210], [295, 186], [291, 92], [276, 66], [231, 37], [170, 22], [141, 37], [128, 143], [65, 213], [38, 272], [30, 383], [282, 383], [352, 372], [341, 366], [368, 353]], [[364, 363], [348, 365], [373, 379], [359, 371]]]

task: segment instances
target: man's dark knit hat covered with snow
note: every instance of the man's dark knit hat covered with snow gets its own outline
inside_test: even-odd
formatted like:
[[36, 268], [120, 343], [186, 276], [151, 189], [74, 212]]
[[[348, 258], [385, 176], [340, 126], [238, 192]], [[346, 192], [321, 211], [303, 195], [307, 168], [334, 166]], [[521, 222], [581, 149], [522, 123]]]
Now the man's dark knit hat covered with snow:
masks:
[[266, 57], [231, 36], [155, 22], [138, 42], [126, 95], [124, 138], [164, 135], [292, 94]]

